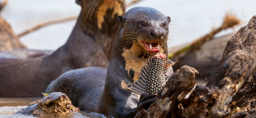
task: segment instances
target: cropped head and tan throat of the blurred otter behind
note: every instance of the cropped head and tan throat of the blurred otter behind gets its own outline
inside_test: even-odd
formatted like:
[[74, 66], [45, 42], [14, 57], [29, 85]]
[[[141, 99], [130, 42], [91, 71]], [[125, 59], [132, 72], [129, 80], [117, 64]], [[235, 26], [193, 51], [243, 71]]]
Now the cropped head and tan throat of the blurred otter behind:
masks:
[[108, 34], [117, 31], [116, 17], [125, 12], [124, 0], [76, 0], [76, 3], [82, 7], [80, 19], [85, 26]]

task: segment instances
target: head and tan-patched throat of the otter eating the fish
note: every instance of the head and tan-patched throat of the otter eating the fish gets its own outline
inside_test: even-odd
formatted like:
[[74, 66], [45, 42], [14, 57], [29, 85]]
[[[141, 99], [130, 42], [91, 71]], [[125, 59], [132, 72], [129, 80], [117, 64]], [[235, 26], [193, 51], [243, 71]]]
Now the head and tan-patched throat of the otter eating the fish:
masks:
[[171, 19], [150, 7], [134, 7], [124, 16], [118, 16], [116, 19], [120, 26], [111, 59], [122, 60], [124, 65], [122, 67], [130, 77], [129, 82], [124, 80], [122, 84], [124, 88], [128, 86], [127, 83], [138, 80], [140, 69], [146, 64], [148, 58], [154, 57], [157, 53], [168, 56], [168, 25]]

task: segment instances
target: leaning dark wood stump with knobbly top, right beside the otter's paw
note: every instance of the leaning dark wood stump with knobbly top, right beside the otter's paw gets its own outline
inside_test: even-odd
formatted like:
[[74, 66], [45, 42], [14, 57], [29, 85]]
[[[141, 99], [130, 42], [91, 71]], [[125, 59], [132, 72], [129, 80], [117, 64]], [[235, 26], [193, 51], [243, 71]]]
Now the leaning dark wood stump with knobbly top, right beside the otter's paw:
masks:
[[168, 117], [186, 94], [192, 90], [197, 74], [198, 71], [195, 68], [186, 65], [176, 70], [162, 91], [159, 92], [157, 100], [148, 108], [147, 112], [150, 117]]

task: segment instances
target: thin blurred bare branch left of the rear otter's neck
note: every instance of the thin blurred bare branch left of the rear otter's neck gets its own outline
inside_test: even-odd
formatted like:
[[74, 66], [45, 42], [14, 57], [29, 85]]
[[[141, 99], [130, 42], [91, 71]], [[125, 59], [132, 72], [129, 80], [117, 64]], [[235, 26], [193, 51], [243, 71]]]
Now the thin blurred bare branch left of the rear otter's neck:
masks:
[[70, 20], [75, 20], [77, 19], [78, 17], [77, 16], [73, 16], [73, 17], [68, 17], [68, 18], [63, 18], [63, 19], [59, 19], [59, 20], [53, 20], [53, 21], [49, 21], [49, 22], [46, 22], [46, 23], [43, 23], [43, 24], [39, 24], [39, 25], [36, 25], [22, 33], [20, 33], [18, 35], [18, 37], [21, 37], [27, 33], [30, 33], [30, 32], [33, 32], [33, 31], [36, 31], [38, 30], [39, 28], [42, 28], [44, 26], [49, 26], [49, 25], [52, 25], [52, 24], [56, 24], [56, 23], [61, 23], [61, 22], [67, 22], [67, 21], [70, 21]]

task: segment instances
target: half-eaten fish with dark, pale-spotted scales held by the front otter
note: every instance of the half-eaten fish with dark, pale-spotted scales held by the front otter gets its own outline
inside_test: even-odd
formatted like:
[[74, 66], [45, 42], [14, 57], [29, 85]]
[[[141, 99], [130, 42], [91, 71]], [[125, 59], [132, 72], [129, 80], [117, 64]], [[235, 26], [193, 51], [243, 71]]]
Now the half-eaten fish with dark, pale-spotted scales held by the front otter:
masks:
[[152, 58], [148, 58], [147, 65], [140, 70], [140, 78], [126, 89], [133, 91], [139, 95], [142, 94], [158, 94], [162, 90], [165, 83], [170, 79], [166, 76], [166, 68], [173, 66], [176, 62], [165, 60], [166, 55], [157, 53]]

